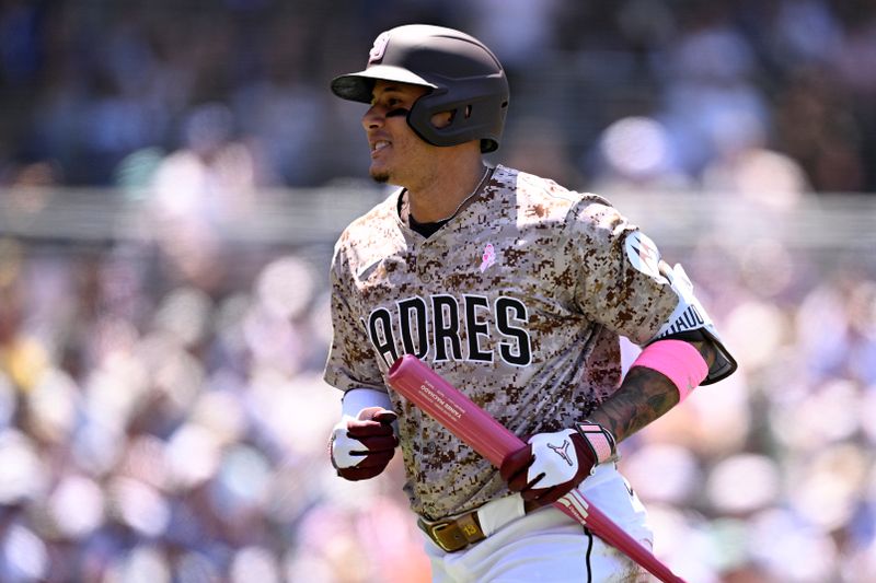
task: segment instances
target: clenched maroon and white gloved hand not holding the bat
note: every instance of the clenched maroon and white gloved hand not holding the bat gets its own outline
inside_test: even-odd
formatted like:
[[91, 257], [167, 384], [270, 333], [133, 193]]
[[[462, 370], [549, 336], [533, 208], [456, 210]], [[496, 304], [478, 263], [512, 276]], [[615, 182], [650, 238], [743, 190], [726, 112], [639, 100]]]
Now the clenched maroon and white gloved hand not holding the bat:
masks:
[[399, 445], [392, 429], [395, 419], [393, 411], [382, 407], [366, 407], [355, 418], [345, 416], [332, 430], [328, 442], [337, 475], [367, 480], [383, 471]]

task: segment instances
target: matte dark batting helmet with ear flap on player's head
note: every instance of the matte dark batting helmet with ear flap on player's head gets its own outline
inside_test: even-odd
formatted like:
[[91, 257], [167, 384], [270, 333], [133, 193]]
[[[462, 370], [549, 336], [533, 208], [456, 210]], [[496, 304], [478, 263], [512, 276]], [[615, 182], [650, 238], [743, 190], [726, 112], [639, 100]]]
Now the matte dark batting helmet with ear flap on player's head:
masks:
[[[412, 24], [377, 37], [365, 70], [332, 81], [345, 100], [371, 102], [378, 80], [427, 88], [407, 114], [407, 124], [433, 145], [481, 140], [481, 151], [499, 147], [508, 110], [508, 80], [495, 55], [480, 40], [452, 28]], [[435, 114], [451, 113], [446, 127]]]

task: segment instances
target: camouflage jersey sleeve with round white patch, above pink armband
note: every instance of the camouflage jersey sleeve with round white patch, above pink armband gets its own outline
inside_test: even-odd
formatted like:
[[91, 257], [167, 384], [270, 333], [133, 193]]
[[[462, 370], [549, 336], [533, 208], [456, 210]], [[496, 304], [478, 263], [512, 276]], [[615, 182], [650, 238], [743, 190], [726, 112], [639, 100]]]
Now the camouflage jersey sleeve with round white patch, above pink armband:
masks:
[[613, 207], [587, 198], [573, 209], [567, 229], [578, 308], [639, 346], [652, 340], [678, 304], [654, 242]]

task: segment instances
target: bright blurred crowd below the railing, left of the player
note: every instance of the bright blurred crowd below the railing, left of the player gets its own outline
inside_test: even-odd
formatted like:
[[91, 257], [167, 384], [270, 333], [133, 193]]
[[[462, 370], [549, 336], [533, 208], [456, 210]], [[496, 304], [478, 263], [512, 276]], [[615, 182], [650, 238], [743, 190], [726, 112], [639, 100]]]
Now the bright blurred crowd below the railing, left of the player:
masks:
[[0, 241], [0, 581], [424, 580], [401, 468], [326, 462], [323, 278], [237, 252], [204, 278], [154, 242]]

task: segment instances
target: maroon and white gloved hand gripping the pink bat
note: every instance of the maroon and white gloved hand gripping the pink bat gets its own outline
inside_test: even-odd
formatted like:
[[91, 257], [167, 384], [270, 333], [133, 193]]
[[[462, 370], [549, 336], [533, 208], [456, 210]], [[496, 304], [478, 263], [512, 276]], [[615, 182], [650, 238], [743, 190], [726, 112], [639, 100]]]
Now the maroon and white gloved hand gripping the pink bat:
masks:
[[552, 504], [578, 486], [614, 455], [614, 436], [597, 423], [537, 433], [526, 446], [509, 454], [499, 474], [508, 488], [537, 506]]

